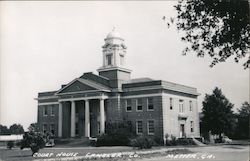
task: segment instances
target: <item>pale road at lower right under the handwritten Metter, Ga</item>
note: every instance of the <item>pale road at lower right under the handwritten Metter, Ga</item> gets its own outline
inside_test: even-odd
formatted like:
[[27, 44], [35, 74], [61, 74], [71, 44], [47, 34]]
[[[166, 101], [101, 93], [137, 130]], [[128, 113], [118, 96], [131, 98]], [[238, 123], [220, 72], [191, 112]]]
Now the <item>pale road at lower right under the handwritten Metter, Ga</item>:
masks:
[[249, 161], [249, 145], [221, 145], [187, 148], [189, 155], [167, 155], [136, 161]]

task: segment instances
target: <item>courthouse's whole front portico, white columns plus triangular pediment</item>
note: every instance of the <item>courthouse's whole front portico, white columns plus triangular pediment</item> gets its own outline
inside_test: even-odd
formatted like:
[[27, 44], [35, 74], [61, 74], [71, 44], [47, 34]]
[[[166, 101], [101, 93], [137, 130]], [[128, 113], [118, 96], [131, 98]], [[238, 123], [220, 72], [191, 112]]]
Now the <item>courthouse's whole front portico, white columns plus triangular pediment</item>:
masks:
[[104, 102], [109, 92], [108, 88], [82, 78], [73, 80], [56, 92], [59, 103], [58, 137], [92, 137], [103, 134]]

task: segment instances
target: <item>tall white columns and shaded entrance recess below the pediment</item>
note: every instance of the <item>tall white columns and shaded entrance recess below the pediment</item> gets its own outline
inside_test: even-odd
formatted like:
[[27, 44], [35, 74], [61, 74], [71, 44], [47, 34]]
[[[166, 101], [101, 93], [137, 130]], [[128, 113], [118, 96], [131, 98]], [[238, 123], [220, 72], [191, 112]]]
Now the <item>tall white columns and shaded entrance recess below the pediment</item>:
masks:
[[64, 101], [60, 104], [58, 124], [59, 137], [96, 137], [104, 133], [106, 122], [106, 105], [104, 100]]

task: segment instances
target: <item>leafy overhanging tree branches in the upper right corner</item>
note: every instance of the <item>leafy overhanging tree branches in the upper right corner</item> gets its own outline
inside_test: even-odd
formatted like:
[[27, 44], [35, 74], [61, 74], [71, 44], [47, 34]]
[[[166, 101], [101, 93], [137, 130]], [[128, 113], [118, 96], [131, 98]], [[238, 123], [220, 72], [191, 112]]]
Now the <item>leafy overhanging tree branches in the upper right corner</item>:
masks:
[[[183, 31], [181, 40], [188, 45], [183, 54], [212, 58], [210, 67], [233, 57], [245, 57], [250, 48], [250, 17], [247, 0], [185, 0], [175, 5], [176, 17], [167, 22]], [[164, 16], [165, 20], [166, 17]], [[248, 68], [250, 56], [243, 64]]]

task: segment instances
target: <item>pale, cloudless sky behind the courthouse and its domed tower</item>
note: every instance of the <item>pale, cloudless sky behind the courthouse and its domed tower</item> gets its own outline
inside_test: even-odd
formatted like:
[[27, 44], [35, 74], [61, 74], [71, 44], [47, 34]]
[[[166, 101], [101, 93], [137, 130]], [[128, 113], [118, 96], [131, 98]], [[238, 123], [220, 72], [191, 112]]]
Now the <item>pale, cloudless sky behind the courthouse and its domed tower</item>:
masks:
[[150, 77], [196, 87], [199, 110], [217, 86], [234, 104], [249, 101], [249, 70], [228, 60], [182, 56], [185, 44], [163, 16], [175, 1], [0, 2], [0, 124], [37, 121], [38, 92], [60, 89], [102, 66], [104, 38], [116, 28], [127, 45], [132, 78]]

